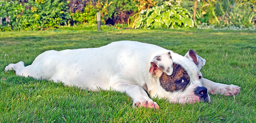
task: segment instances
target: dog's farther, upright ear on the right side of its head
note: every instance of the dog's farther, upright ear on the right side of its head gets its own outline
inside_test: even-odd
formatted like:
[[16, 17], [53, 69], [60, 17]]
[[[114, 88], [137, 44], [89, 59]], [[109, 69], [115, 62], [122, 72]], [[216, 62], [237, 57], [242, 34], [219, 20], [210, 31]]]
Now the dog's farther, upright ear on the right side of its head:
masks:
[[199, 70], [201, 70], [201, 68], [205, 65], [206, 60], [203, 59], [201, 56], [197, 55], [197, 53], [195, 52], [195, 50], [190, 49], [185, 57], [191, 59], [198, 67]]

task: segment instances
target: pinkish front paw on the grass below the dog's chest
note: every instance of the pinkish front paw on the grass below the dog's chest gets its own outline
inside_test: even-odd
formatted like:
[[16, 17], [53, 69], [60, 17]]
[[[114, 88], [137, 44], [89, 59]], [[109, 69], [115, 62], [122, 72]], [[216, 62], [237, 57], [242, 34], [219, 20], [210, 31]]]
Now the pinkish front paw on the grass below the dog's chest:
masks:
[[136, 107], [147, 107], [147, 108], [159, 109], [159, 105], [156, 102], [154, 102], [152, 99], [148, 99], [148, 101], [146, 99], [143, 99], [141, 101], [134, 101], [133, 108], [136, 108]]

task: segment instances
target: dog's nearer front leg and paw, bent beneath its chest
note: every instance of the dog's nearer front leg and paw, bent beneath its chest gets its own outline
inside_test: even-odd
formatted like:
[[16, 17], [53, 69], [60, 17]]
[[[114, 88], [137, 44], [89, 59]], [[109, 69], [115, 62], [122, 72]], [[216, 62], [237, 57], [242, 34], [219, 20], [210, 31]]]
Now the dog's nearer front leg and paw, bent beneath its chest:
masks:
[[112, 86], [115, 90], [126, 92], [128, 96], [133, 99], [133, 108], [135, 107], [148, 107], [159, 108], [158, 104], [148, 97], [142, 87], [129, 83], [116, 83]]

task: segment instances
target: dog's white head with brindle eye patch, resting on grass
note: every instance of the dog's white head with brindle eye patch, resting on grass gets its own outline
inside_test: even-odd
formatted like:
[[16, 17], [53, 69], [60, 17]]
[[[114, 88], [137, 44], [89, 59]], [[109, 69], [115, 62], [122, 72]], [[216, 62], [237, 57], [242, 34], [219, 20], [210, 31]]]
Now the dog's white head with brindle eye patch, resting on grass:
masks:
[[210, 102], [200, 72], [205, 62], [192, 49], [185, 56], [173, 52], [155, 56], [149, 72], [157, 81], [157, 95], [174, 103]]

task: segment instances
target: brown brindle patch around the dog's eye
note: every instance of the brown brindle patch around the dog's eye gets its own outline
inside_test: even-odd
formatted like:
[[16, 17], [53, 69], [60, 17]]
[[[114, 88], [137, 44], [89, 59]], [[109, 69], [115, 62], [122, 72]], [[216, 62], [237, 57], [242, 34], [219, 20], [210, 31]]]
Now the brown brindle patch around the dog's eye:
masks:
[[[178, 82], [179, 80], [181, 81], [181, 79], [184, 80], [183, 83]], [[172, 75], [168, 76], [163, 73], [162, 76], [160, 76], [159, 81], [163, 89], [167, 92], [173, 92], [175, 90], [184, 90], [190, 79], [187, 71], [179, 64], [174, 63]]]

